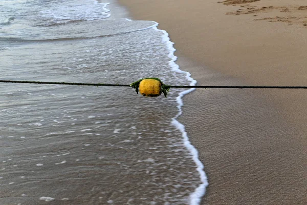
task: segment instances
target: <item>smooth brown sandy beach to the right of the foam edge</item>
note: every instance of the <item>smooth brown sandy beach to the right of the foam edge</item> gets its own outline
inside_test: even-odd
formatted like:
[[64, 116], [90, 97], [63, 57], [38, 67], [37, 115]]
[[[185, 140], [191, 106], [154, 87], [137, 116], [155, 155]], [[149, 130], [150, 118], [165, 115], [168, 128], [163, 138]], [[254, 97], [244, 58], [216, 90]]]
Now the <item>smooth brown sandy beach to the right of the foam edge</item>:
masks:
[[[155, 20], [199, 85], [307, 86], [307, 1], [120, 0]], [[180, 121], [209, 186], [202, 204], [306, 204], [307, 91], [197, 89]]]

